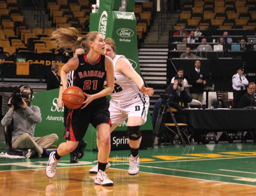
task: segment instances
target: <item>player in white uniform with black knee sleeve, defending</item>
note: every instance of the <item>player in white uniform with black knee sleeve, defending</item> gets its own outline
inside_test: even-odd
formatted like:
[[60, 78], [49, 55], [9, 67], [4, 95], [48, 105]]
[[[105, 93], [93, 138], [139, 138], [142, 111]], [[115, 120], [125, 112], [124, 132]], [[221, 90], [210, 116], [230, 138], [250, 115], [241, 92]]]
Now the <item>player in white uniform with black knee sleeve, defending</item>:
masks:
[[[127, 121], [128, 143], [130, 147], [130, 163], [128, 173], [135, 175], [139, 172], [139, 145], [141, 142], [140, 126], [147, 120], [149, 97], [154, 90], [144, 87], [143, 79], [132, 68], [128, 59], [117, 55], [115, 42], [105, 38], [105, 55], [112, 58], [115, 73], [114, 91], [110, 94], [110, 118], [112, 121], [111, 132], [120, 124]], [[97, 146], [100, 148], [97, 134]], [[110, 163], [106, 168], [110, 167]], [[90, 173], [98, 172], [98, 164], [89, 170]]]

